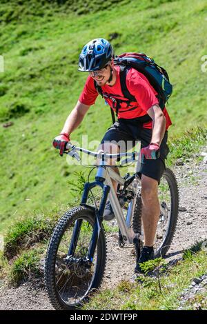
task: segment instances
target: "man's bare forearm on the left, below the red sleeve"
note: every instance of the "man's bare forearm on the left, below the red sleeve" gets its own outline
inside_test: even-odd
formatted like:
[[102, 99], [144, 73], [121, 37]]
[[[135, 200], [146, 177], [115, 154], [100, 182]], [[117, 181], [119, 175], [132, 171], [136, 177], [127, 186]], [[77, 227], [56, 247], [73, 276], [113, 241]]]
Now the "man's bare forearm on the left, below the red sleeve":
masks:
[[61, 133], [67, 133], [70, 135], [80, 125], [89, 108], [90, 105], [84, 105], [78, 101], [75, 108], [72, 110], [72, 112], [70, 112], [68, 118], [66, 119], [66, 123], [63, 126]]

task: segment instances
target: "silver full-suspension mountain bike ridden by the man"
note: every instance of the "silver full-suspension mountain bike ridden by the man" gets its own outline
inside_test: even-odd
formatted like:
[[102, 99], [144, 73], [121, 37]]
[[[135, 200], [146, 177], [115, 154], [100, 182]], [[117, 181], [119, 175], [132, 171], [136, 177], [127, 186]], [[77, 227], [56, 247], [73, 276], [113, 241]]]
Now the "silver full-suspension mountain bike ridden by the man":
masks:
[[[92, 152], [68, 143], [66, 154], [81, 162], [79, 152], [98, 158], [95, 181], [86, 182], [78, 207], [59, 219], [52, 233], [45, 262], [48, 296], [56, 310], [75, 310], [97, 291], [106, 266], [106, 235], [103, 212], [109, 199], [119, 226], [119, 247], [134, 245], [139, 259], [143, 242], [141, 225], [140, 151], [119, 154]], [[119, 159], [118, 167], [136, 163], [135, 173], [122, 177], [108, 159]], [[117, 181], [117, 192], [112, 185]], [[101, 188], [99, 205], [88, 203], [88, 195]], [[120, 205], [124, 199], [124, 207]], [[177, 223], [179, 194], [172, 170], [166, 168], [159, 184], [160, 216], [155, 237], [155, 257], [165, 256]]]

